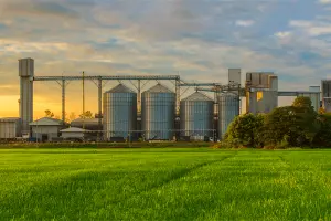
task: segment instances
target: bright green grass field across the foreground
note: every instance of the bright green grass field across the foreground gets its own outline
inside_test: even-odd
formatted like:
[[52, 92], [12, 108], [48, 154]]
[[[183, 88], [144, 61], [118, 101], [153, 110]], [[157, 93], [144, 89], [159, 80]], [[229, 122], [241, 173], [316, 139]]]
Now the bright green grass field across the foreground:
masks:
[[331, 220], [331, 150], [1, 149], [1, 220]]

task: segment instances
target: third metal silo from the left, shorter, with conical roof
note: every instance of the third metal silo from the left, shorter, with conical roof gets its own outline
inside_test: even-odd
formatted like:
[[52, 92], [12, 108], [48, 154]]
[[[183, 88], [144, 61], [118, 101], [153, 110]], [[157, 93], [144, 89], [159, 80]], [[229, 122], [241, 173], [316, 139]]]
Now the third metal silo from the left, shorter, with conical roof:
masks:
[[214, 101], [195, 92], [181, 101], [181, 135], [193, 140], [213, 136]]

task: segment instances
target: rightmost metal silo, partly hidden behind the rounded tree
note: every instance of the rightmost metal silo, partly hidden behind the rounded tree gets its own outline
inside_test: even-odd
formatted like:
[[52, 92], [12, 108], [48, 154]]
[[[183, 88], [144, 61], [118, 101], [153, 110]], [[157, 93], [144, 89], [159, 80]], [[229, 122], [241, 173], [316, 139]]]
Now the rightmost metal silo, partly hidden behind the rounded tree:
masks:
[[222, 139], [228, 125], [239, 115], [239, 97], [233, 93], [218, 96], [218, 137]]

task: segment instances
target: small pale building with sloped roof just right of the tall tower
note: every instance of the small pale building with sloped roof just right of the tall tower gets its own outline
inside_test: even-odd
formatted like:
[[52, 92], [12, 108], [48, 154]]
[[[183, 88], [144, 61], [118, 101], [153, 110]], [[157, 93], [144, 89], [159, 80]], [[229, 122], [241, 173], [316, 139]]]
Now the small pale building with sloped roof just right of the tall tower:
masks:
[[52, 141], [52, 138], [60, 137], [60, 130], [65, 128], [65, 125], [60, 119], [43, 117], [33, 123], [30, 123], [32, 128], [32, 137], [38, 141]]

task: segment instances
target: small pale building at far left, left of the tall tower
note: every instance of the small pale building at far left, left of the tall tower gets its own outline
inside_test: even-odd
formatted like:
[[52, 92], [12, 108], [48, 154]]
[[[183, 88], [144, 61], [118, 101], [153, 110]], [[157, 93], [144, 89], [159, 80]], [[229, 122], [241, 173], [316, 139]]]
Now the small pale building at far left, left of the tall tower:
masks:
[[18, 117], [0, 118], [0, 139], [14, 139], [21, 136], [21, 119]]

